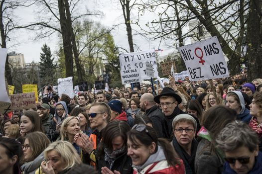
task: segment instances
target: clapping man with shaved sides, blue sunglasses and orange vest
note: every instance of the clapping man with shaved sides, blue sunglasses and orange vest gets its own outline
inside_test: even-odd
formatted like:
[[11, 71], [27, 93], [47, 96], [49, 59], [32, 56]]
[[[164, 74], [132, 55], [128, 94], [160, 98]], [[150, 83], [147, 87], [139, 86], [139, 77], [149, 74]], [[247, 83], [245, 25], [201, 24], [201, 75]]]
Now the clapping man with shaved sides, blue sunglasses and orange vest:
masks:
[[88, 163], [95, 167], [97, 154], [96, 149], [102, 139], [103, 130], [111, 119], [111, 110], [110, 107], [104, 102], [94, 103], [89, 110], [88, 116], [90, 127], [93, 129], [93, 132], [89, 138], [81, 133], [78, 133], [75, 135], [74, 141], [89, 156], [87, 162], [84, 163]]

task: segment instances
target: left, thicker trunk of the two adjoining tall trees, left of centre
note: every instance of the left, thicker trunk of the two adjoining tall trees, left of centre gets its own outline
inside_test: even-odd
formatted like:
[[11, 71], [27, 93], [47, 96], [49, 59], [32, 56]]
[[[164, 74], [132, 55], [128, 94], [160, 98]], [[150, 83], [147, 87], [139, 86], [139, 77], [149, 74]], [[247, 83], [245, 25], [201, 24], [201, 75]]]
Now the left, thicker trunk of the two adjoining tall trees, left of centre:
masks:
[[61, 32], [63, 38], [63, 50], [65, 55], [65, 71], [66, 71], [66, 77], [73, 77], [74, 61], [73, 61], [73, 52], [72, 52], [72, 43], [71, 43], [72, 35], [70, 32], [71, 22], [69, 23], [67, 20], [64, 1], [67, 0], [58, 0], [58, 8], [59, 8], [60, 26], [61, 26]]

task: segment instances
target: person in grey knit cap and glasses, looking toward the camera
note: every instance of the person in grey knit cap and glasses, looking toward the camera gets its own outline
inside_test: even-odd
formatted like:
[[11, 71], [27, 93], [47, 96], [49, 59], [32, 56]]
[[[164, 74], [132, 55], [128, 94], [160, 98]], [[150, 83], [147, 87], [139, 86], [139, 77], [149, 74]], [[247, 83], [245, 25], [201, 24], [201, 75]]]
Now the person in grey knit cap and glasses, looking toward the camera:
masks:
[[186, 174], [195, 174], [195, 156], [198, 142], [196, 135], [197, 122], [189, 114], [177, 115], [172, 122], [174, 138], [171, 145], [183, 160]]

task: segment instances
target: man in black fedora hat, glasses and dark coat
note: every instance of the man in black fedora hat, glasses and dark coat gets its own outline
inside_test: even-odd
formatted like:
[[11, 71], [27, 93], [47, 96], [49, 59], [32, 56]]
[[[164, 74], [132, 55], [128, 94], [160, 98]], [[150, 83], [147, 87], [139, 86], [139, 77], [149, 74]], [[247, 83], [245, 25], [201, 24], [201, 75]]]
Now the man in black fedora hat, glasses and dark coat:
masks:
[[173, 138], [173, 119], [175, 116], [185, 113], [178, 108], [178, 104], [181, 103], [182, 99], [176, 92], [170, 87], [164, 87], [162, 92], [154, 97], [154, 101], [159, 104], [165, 115], [165, 119], [162, 120], [163, 136], [169, 141], [172, 141]]

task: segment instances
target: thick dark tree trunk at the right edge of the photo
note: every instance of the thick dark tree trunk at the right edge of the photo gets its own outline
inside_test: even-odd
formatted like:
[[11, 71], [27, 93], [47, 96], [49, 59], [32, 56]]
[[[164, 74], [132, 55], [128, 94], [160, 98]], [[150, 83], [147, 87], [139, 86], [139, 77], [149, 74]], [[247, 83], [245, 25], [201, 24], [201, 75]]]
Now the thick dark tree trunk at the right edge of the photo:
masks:
[[248, 81], [261, 78], [262, 74], [262, 24], [261, 10], [262, 1], [250, 0], [250, 10], [248, 18]]

